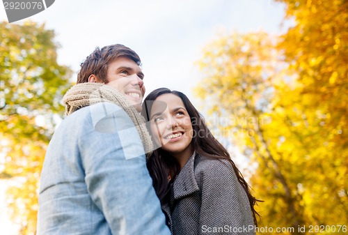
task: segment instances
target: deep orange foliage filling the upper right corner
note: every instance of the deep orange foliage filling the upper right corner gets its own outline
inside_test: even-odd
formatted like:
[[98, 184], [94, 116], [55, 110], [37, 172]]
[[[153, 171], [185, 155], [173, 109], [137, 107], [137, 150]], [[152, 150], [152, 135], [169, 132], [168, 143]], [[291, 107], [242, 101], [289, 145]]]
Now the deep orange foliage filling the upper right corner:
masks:
[[296, 73], [301, 95], [321, 101], [311, 106], [327, 114], [324, 129], [332, 131], [336, 147], [347, 147], [348, 1], [282, 1], [297, 24], [278, 49], [290, 63], [289, 73]]

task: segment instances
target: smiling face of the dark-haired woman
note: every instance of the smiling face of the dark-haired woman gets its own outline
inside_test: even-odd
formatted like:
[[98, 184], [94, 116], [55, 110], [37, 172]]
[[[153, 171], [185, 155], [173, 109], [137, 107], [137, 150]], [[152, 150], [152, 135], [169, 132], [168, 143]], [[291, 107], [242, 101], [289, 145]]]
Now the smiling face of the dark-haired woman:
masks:
[[159, 96], [150, 110], [150, 130], [155, 143], [173, 156], [191, 156], [193, 129], [179, 96]]

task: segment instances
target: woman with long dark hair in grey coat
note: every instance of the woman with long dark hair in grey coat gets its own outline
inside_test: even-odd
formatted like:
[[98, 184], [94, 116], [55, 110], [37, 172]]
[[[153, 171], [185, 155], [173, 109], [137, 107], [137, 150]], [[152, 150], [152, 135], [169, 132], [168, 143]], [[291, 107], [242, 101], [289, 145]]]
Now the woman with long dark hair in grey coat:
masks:
[[142, 114], [158, 146], [148, 169], [172, 233], [255, 234], [257, 200], [187, 96], [156, 89]]

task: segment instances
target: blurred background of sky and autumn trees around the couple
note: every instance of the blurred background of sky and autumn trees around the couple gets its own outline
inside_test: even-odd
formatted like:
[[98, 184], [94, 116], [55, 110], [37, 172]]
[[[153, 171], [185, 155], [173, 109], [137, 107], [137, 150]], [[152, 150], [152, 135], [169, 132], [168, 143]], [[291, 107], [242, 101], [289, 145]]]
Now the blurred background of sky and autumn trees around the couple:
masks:
[[115, 43], [141, 56], [146, 94], [182, 91], [205, 116], [264, 201], [258, 234], [345, 234], [347, 22], [345, 0], [57, 0], [11, 24], [1, 7], [1, 234], [35, 234], [61, 98]]

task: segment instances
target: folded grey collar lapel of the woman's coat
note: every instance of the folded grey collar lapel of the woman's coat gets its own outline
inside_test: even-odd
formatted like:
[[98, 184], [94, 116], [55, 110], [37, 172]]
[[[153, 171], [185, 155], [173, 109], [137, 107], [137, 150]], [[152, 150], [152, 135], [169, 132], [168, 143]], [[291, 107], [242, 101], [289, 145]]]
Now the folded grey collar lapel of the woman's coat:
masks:
[[193, 192], [199, 191], [197, 181], [194, 174], [196, 152], [187, 160], [186, 164], [180, 170], [173, 184], [174, 199], [186, 197]]

